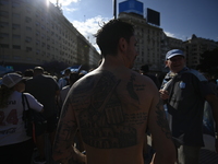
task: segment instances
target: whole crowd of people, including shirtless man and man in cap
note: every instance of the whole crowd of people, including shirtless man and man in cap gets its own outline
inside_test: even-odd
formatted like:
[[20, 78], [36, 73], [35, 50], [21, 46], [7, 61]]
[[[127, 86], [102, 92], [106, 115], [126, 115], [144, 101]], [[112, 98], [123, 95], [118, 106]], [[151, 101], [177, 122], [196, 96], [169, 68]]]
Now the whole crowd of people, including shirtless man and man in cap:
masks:
[[[87, 74], [64, 70], [61, 78], [35, 67], [2, 77], [0, 163], [46, 164], [45, 133], [56, 162], [81, 164], [198, 164], [204, 147], [205, 103], [211, 112], [218, 152], [218, 87], [210, 77], [185, 66], [185, 54], [166, 54], [169, 72], [159, 80], [137, 57], [134, 26], [111, 20], [96, 34], [102, 60]], [[27, 97], [28, 106], [23, 103]], [[35, 140], [26, 136], [23, 112], [41, 113]], [[207, 108], [208, 109], [208, 108]], [[35, 142], [34, 142], [35, 141]]]

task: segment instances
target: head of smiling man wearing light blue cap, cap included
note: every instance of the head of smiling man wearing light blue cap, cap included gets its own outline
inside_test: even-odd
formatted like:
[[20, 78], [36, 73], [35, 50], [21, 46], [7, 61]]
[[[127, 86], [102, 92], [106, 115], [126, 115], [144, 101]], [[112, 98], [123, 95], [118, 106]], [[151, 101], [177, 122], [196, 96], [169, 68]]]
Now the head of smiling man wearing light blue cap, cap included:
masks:
[[185, 55], [180, 49], [172, 49], [167, 52], [165, 63], [170, 71], [178, 73], [185, 67]]

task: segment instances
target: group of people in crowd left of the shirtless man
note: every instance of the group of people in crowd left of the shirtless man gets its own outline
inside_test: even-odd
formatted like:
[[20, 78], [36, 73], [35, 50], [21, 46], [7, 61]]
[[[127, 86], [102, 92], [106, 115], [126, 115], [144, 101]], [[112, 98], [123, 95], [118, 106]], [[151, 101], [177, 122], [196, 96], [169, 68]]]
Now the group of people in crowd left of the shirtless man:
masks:
[[[38, 156], [35, 164], [44, 164], [46, 160], [45, 134], [49, 134], [53, 144], [58, 118], [65, 96], [82, 75], [66, 69], [63, 77], [50, 75], [41, 67], [26, 69], [24, 72], [7, 73], [1, 79], [0, 87], [0, 163], [31, 164], [34, 149]], [[27, 97], [25, 105], [22, 95]], [[24, 104], [23, 104], [24, 103]], [[33, 109], [44, 115], [46, 124], [35, 124], [35, 136], [28, 137], [24, 125], [24, 109]], [[35, 138], [35, 141], [33, 140]], [[78, 141], [80, 138], [77, 139]], [[81, 142], [78, 142], [81, 143]]]

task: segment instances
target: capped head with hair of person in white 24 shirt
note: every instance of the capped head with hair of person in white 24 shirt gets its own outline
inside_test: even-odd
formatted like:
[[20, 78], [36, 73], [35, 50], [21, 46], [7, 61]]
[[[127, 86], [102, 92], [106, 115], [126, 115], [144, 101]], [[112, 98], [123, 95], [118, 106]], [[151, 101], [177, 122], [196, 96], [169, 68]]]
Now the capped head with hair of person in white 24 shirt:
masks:
[[23, 92], [25, 90], [25, 79], [17, 73], [8, 73], [2, 78], [0, 87], [0, 107], [8, 106], [8, 98], [14, 92]]

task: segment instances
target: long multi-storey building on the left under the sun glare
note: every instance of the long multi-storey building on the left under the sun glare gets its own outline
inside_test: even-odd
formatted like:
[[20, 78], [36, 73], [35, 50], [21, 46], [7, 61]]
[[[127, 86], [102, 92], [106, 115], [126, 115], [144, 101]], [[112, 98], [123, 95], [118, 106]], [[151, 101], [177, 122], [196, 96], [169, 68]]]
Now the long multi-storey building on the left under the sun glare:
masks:
[[[90, 60], [92, 59], [92, 60]], [[93, 68], [97, 50], [47, 0], [0, 0], [0, 63], [39, 66], [53, 60]]]

